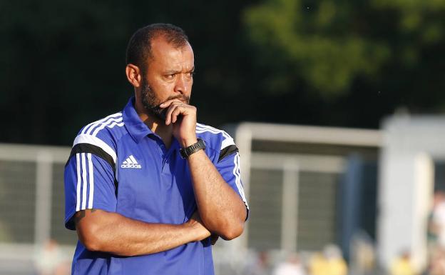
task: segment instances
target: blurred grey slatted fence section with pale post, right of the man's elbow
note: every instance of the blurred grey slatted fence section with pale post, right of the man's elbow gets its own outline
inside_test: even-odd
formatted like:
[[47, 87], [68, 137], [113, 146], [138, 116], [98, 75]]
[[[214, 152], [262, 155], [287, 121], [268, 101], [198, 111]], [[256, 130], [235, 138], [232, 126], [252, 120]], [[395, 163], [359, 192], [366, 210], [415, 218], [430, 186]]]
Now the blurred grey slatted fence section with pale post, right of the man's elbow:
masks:
[[337, 156], [253, 153], [247, 246], [318, 250], [336, 240]]

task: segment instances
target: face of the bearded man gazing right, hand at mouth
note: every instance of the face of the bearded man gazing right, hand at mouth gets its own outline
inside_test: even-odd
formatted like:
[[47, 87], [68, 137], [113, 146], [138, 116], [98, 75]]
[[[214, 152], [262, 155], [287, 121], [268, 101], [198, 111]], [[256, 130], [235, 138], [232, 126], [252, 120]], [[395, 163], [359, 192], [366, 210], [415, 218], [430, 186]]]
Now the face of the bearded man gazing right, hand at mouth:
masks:
[[153, 58], [148, 62], [140, 86], [141, 103], [149, 114], [165, 120], [159, 105], [169, 99], [190, 101], [193, 85], [194, 56], [190, 44], [175, 48], [162, 37], [153, 39]]

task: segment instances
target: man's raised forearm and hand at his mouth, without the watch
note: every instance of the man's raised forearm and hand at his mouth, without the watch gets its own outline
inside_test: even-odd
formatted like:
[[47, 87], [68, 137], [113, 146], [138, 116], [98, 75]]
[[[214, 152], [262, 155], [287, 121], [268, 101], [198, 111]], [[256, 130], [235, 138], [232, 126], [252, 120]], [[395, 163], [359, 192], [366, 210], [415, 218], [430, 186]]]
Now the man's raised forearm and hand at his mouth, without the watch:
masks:
[[[182, 148], [198, 141], [195, 106], [170, 99], [160, 104], [160, 107], [167, 109], [165, 125], [173, 124], [173, 136]], [[205, 227], [223, 239], [239, 236], [247, 216], [240, 196], [225, 182], [205, 151], [200, 150], [188, 156], [188, 164], [198, 211]]]

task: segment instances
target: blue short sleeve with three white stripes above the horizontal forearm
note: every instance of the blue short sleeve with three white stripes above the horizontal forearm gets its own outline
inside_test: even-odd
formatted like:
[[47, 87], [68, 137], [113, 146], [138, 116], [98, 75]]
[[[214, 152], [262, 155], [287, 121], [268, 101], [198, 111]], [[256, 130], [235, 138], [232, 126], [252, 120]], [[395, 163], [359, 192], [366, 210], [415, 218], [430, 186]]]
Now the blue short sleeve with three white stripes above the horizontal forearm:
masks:
[[91, 153], [72, 154], [65, 166], [65, 226], [74, 230], [77, 211], [116, 211], [114, 172], [108, 161]]

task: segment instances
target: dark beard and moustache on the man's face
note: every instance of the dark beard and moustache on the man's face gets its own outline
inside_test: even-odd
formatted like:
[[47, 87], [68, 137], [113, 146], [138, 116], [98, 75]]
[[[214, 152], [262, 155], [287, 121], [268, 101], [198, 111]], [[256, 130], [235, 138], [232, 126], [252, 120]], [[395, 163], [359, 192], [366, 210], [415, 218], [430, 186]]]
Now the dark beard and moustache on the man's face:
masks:
[[188, 104], [190, 102], [190, 96], [185, 96], [184, 94], [178, 94], [178, 96], [169, 96], [168, 99], [165, 99], [165, 101], [160, 101], [160, 99], [155, 96], [153, 89], [150, 88], [150, 85], [148, 85], [145, 78], [142, 79], [141, 86], [142, 89], [140, 93], [142, 96], [142, 106], [148, 112], [148, 114], [155, 116], [155, 118], [157, 118], [158, 120], [165, 121], [165, 116], [168, 108], [160, 108], [159, 106], [160, 104], [163, 104], [163, 102], [170, 99], [179, 99], [185, 104]]

